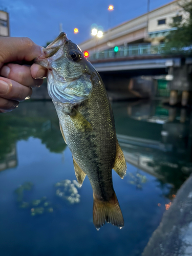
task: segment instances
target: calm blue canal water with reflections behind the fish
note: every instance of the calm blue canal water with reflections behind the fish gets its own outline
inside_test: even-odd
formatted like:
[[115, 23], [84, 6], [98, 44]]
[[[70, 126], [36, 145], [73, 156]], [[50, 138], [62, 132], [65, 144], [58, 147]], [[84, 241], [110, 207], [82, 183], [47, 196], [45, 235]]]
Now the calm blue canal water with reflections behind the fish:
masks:
[[51, 101], [0, 116], [1, 256], [140, 256], [191, 173], [191, 114], [160, 101], [112, 103], [127, 162], [113, 183], [124, 227], [93, 225], [88, 178], [78, 187]]

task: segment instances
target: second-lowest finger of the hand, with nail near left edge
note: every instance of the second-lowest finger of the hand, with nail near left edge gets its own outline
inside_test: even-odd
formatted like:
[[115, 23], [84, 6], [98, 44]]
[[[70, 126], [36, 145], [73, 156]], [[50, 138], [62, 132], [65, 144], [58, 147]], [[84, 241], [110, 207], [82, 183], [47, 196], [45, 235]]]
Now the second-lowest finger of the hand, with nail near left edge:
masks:
[[0, 97], [23, 101], [29, 99], [32, 89], [11, 79], [0, 77]]

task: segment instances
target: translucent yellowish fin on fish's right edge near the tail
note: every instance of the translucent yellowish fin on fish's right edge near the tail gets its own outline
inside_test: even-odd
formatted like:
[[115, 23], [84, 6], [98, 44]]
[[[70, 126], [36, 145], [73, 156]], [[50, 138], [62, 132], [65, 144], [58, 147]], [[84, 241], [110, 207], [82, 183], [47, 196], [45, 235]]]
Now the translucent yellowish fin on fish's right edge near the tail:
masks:
[[126, 174], [126, 161], [118, 141], [116, 143], [116, 158], [113, 169], [121, 179], [124, 178]]

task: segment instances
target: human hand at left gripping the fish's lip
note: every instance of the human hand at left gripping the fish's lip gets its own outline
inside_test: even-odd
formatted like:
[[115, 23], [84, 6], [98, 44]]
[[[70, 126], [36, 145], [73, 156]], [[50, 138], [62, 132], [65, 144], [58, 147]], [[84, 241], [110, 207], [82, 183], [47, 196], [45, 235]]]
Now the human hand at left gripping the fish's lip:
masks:
[[0, 37], [0, 112], [12, 111], [30, 98], [31, 88], [41, 86], [47, 70], [26, 66], [41, 54], [41, 47], [27, 37]]

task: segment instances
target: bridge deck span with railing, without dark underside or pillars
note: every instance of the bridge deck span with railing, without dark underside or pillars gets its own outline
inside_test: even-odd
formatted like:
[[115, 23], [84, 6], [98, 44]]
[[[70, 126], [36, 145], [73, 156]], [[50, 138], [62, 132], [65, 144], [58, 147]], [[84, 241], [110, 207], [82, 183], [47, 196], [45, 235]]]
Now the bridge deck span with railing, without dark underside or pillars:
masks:
[[180, 67], [181, 58], [166, 52], [165, 44], [129, 45], [120, 46], [116, 52], [114, 49], [95, 52], [89, 60], [98, 72]]

